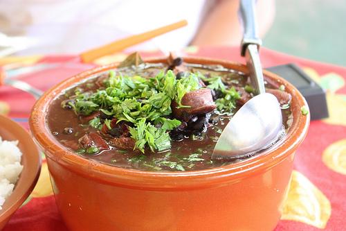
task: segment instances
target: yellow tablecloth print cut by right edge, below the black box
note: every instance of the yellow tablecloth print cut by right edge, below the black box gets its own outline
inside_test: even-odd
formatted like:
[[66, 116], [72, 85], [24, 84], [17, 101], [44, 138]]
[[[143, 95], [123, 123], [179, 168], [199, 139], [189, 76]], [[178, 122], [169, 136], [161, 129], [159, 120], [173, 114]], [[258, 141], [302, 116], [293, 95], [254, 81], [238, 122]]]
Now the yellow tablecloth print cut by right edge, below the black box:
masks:
[[346, 175], [346, 139], [330, 144], [323, 151], [322, 161], [329, 169]]

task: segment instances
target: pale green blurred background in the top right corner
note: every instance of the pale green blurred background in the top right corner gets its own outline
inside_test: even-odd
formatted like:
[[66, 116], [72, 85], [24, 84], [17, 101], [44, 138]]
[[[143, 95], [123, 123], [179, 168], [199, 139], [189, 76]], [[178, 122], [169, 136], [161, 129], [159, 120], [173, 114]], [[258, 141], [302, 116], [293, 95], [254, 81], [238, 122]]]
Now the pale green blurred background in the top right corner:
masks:
[[346, 1], [276, 0], [264, 46], [320, 62], [346, 66]]

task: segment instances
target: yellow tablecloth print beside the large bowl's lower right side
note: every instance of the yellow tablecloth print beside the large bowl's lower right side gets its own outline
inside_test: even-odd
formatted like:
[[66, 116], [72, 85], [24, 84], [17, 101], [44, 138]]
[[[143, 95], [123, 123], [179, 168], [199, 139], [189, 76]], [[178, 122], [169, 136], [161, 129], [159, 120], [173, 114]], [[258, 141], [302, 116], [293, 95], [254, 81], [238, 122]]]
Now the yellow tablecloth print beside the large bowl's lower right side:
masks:
[[282, 220], [298, 221], [325, 228], [331, 215], [328, 198], [302, 173], [293, 170], [291, 184], [282, 206]]

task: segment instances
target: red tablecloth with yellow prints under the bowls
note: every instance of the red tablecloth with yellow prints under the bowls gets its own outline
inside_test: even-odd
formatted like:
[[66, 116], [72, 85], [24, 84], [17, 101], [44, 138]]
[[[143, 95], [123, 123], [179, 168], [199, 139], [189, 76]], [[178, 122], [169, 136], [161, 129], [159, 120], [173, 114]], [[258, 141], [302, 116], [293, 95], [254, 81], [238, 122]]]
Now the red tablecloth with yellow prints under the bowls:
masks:
[[[190, 47], [185, 55], [203, 56], [244, 62], [239, 49]], [[158, 52], [146, 52], [157, 56]], [[111, 55], [98, 64], [119, 61], [124, 54]], [[298, 149], [291, 178], [289, 196], [284, 203], [282, 219], [275, 230], [346, 230], [346, 68], [312, 62], [290, 55], [261, 50], [264, 67], [295, 62], [327, 91], [330, 117], [312, 121], [309, 134]], [[0, 65], [19, 67], [8, 71], [31, 85], [46, 90], [55, 83], [95, 65], [79, 62], [73, 55], [35, 56], [0, 59]], [[0, 113], [28, 128], [28, 116], [35, 99], [12, 87], [0, 87]], [[57, 212], [49, 182], [48, 169], [43, 162], [42, 173], [26, 203], [12, 216], [4, 231], [67, 230]], [[260, 228], [259, 228], [260, 230]]]

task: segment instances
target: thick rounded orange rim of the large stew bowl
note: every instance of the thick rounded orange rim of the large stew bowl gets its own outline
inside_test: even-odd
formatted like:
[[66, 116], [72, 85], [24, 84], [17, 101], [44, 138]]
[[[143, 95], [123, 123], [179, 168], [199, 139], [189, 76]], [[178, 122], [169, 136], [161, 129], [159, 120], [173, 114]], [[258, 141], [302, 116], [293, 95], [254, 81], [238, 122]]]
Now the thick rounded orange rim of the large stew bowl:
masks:
[[[146, 62], [166, 62], [167, 58], [152, 58]], [[183, 58], [184, 62], [198, 63], [205, 65], [222, 65], [224, 67], [237, 69], [244, 73], [248, 73], [245, 65], [230, 62], [226, 60], [215, 60], [207, 58]], [[212, 169], [203, 169], [199, 171], [173, 171], [173, 172], [156, 172], [156, 171], [140, 171], [135, 169], [125, 169], [116, 166], [109, 166], [101, 164], [93, 160], [87, 160], [75, 153], [67, 150], [62, 144], [57, 142], [55, 137], [46, 125], [46, 112], [51, 104], [60, 93], [76, 83], [79, 83], [85, 78], [95, 76], [103, 71], [109, 69], [116, 69], [118, 63], [111, 65], [104, 65], [94, 69], [84, 71], [80, 74], [68, 78], [62, 83], [55, 85], [35, 103], [31, 113], [29, 124], [30, 130], [35, 138], [35, 141], [51, 155], [51, 159], [55, 162], [62, 164], [62, 166], [69, 168], [71, 171], [93, 178], [109, 184], [122, 185], [124, 187], [138, 187], [138, 188], [151, 188], [151, 189], [180, 189], [180, 188], [196, 188], [206, 187], [206, 185], [215, 185], [224, 182], [225, 180], [239, 180], [255, 174], [258, 171], [265, 171], [270, 169], [275, 164], [282, 162], [282, 160], [289, 157], [296, 148], [300, 145], [304, 137], [307, 135], [309, 126], [309, 115], [302, 115], [300, 108], [307, 106], [304, 97], [298, 92], [293, 85], [288, 83], [283, 78], [264, 70], [264, 75], [286, 87], [286, 92], [292, 94], [291, 109], [293, 111], [293, 123], [289, 129], [285, 139], [280, 143], [280, 146], [270, 148], [262, 155], [255, 155], [235, 164], [228, 164], [226, 166], [215, 167]], [[46, 154], [48, 154], [46, 153]]]

